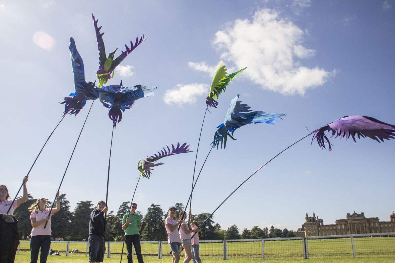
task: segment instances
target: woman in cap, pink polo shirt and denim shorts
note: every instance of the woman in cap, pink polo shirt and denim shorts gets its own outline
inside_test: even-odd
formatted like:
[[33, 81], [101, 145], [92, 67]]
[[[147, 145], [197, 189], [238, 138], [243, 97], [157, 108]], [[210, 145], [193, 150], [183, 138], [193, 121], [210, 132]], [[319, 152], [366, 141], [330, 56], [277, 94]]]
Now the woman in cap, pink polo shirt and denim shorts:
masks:
[[171, 253], [173, 254], [172, 263], [178, 263], [180, 260], [181, 239], [178, 234], [177, 228], [182, 223], [182, 219], [178, 222], [175, 219], [175, 207], [169, 207], [169, 214], [165, 220], [165, 228], [167, 232], [167, 243], [170, 246]]

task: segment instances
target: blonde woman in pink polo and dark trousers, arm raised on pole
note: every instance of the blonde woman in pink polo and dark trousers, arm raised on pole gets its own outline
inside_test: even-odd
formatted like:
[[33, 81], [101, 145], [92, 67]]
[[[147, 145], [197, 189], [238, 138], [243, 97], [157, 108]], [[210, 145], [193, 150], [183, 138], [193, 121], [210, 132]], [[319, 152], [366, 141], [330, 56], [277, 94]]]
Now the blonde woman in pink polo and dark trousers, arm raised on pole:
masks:
[[[51, 246], [51, 215], [60, 210], [59, 192], [56, 192], [56, 208], [45, 208], [47, 200], [45, 198], [37, 199], [36, 203], [29, 207], [30, 220], [32, 221], [32, 238], [30, 239], [30, 263], [37, 263], [38, 252], [41, 248], [40, 263], [47, 262], [49, 247]], [[47, 226], [45, 226], [45, 222]]]

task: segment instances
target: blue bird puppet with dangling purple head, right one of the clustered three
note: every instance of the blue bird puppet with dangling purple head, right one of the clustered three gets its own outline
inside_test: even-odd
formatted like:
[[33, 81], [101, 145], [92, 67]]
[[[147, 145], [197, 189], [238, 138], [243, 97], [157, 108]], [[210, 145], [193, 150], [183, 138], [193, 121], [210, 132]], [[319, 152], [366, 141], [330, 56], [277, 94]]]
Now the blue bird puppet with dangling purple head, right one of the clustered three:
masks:
[[122, 119], [122, 112], [130, 109], [134, 105], [134, 101], [154, 95], [154, 86], [136, 85], [133, 88], [120, 85], [102, 86], [98, 88], [100, 91], [100, 101], [109, 108], [108, 116], [113, 121], [114, 127], [117, 127]]

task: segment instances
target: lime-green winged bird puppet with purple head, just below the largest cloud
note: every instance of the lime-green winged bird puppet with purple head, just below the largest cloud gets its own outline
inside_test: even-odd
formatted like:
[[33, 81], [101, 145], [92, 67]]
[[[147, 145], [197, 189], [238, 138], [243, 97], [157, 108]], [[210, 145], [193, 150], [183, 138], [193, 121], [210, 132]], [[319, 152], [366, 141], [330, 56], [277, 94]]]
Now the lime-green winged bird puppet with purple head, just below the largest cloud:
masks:
[[235, 78], [241, 73], [241, 71], [245, 69], [246, 67], [244, 69], [236, 71], [235, 73], [227, 75], [228, 73], [226, 72], [226, 65], [224, 65], [224, 63], [221, 63], [221, 65], [215, 71], [213, 80], [211, 81], [210, 92], [206, 98], [207, 106], [216, 108], [218, 106], [218, 102], [214, 99], [218, 99], [218, 96], [221, 94], [221, 92], [225, 92], [226, 86], [228, 86], [229, 82], [231, 82], [233, 78]]

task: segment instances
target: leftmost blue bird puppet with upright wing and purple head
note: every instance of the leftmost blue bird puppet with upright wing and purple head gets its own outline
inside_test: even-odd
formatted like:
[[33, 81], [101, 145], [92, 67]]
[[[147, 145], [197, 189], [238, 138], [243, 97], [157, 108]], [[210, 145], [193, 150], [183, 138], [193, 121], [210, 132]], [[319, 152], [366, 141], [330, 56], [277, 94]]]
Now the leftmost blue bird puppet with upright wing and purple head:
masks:
[[98, 99], [99, 91], [95, 86], [96, 81], [89, 83], [85, 81], [84, 62], [82, 61], [81, 55], [78, 53], [72, 37], [70, 37], [69, 49], [71, 66], [73, 67], [74, 73], [75, 93], [70, 93], [70, 97], [63, 97], [64, 101], [61, 102], [61, 104], [64, 104], [63, 116], [68, 112], [76, 116], [83, 106], [85, 106], [88, 99]]

